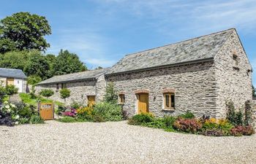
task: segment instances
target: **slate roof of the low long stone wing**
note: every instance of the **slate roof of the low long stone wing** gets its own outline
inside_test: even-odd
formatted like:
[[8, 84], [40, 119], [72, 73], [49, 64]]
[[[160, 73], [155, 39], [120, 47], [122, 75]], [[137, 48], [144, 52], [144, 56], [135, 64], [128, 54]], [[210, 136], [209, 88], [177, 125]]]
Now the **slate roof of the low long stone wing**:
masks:
[[46, 84], [57, 84], [61, 82], [79, 82], [83, 80], [94, 80], [99, 77], [108, 69], [97, 69], [92, 71], [81, 71], [73, 74], [64, 74], [55, 77], [51, 77], [50, 79], [46, 79], [45, 81], [39, 82], [38, 85], [46, 85]]

